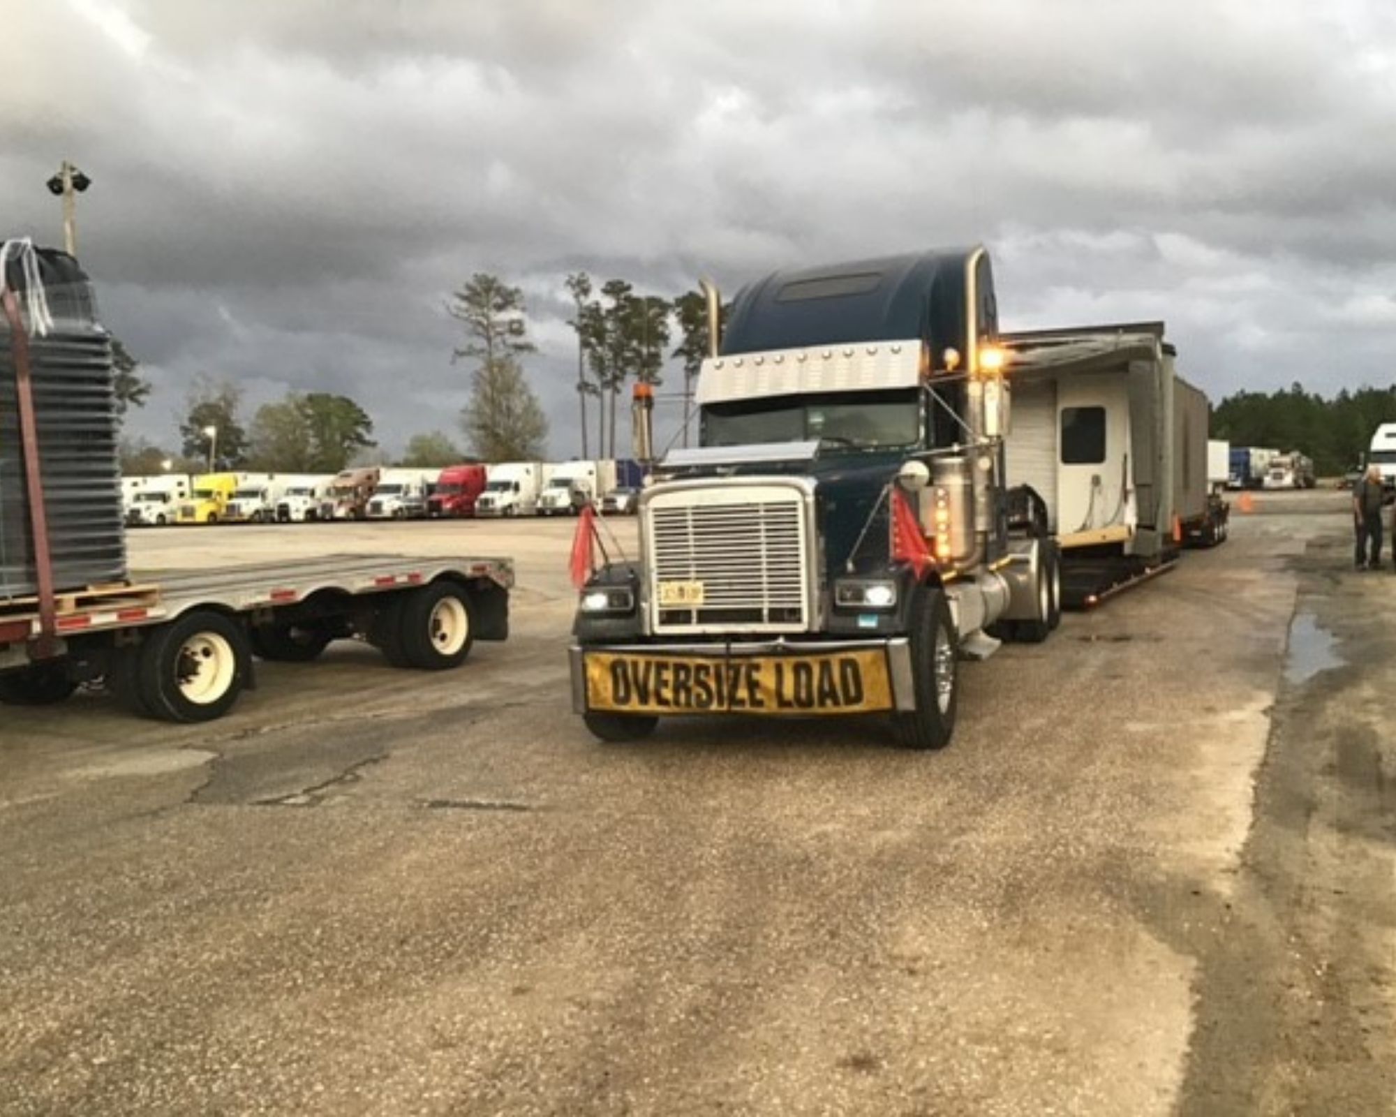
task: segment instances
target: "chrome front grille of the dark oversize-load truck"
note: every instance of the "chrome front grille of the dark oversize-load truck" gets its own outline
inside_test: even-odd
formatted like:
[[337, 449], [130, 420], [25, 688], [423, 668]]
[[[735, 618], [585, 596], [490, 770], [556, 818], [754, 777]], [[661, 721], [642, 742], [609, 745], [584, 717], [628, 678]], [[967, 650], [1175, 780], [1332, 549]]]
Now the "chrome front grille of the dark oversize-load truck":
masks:
[[[738, 498], [727, 503], [712, 501], [711, 490], [691, 501], [681, 496], [648, 510], [653, 631], [808, 628], [801, 494], [737, 489], [733, 496]], [[662, 582], [701, 582], [702, 603], [662, 606]]]

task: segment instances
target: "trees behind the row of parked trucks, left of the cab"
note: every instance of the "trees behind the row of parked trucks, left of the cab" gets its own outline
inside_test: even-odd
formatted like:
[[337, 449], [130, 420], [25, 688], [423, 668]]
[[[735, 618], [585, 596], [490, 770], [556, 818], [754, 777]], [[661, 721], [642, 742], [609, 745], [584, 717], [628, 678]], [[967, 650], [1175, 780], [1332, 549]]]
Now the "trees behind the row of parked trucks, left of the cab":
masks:
[[[586, 272], [565, 279], [577, 335], [578, 419], [582, 457], [592, 457], [595, 410], [596, 457], [627, 452], [617, 430], [618, 401], [627, 381], [663, 383], [667, 360], [683, 369], [683, 398], [691, 399], [694, 378], [708, 352], [706, 302], [698, 290], [666, 299], [641, 295], [625, 279], [593, 283]], [[521, 288], [497, 275], [476, 272], [455, 290], [447, 313], [463, 331], [451, 353], [468, 362], [470, 395], [459, 415], [466, 451], [444, 431], [416, 434], [398, 461], [406, 466], [443, 466], [469, 461], [526, 461], [546, 455], [549, 423], [529, 387], [524, 362], [536, 352], [529, 336], [528, 307]], [[677, 335], [677, 345], [670, 342]], [[113, 341], [117, 410], [144, 406], [151, 385], [138, 363]], [[211, 436], [208, 431], [216, 431]], [[685, 436], [687, 441], [687, 436]], [[228, 381], [200, 377], [179, 423], [179, 451], [144, 440], [123, 441], [123, 469], [155, 473], [254, 469], [265, 472], [338, 472], [352, 464], [384, 462], [373, 438], [373, 419], [357, 402], [331, 392], [289, 392], [261, 405], [250, 420], [242, 391]], [[215, 459], [216, 458], [216, 459]]]

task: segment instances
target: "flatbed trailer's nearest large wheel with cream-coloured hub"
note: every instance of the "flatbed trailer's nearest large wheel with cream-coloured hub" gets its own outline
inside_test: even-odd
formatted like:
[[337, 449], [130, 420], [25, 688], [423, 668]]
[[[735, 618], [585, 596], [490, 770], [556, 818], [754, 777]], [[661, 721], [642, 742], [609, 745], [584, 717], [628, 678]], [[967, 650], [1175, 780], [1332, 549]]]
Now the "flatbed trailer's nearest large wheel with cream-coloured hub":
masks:
[[156, 628], [140, 651], [135, 688], [152, 716], [212, 722], [242, 694], [251, 673], [247, 633], [232, 617], [198, 609]]

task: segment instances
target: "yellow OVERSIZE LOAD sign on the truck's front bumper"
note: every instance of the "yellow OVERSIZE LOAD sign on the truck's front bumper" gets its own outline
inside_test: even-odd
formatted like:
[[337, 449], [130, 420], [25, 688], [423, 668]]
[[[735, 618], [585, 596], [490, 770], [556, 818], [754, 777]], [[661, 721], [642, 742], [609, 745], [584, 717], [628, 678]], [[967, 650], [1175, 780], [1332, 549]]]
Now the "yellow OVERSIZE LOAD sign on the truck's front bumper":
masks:
[[586, 653], [586, 707], [617, 713], [872, 713], [892, 709], [877, 649], [722, 659]]

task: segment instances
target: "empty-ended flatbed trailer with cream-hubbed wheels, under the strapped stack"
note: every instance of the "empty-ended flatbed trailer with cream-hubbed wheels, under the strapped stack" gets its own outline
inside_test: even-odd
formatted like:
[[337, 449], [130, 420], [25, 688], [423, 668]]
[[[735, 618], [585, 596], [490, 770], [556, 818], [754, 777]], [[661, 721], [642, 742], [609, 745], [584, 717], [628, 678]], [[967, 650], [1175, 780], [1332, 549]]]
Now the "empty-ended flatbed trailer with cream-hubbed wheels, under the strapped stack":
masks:
[[180, 571], [0, 602], [0, 701], [43, 705], [103, 683], [135, 713], [221, 718], [253, 658], [307, 662], [359, 638], [398, 667], [459, 666], [508, 637], [507, 558], [331, 556]]

